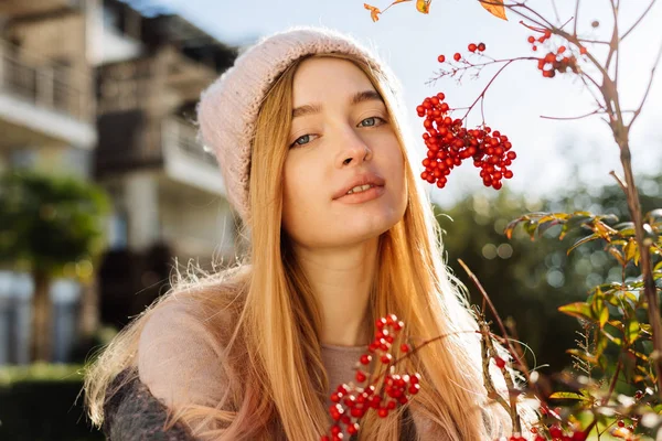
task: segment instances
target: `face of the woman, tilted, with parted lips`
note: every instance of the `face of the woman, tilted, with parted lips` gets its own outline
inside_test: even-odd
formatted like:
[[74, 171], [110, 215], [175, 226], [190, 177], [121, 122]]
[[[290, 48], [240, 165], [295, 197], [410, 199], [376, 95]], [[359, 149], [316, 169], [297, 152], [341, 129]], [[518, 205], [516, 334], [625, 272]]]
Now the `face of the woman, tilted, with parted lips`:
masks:
[[299, 65], [288, 146], [282, 227], [299, 246], [356, 244], [402, 219], [403, 152], [386, 106], [352, 62], [312, 57]]

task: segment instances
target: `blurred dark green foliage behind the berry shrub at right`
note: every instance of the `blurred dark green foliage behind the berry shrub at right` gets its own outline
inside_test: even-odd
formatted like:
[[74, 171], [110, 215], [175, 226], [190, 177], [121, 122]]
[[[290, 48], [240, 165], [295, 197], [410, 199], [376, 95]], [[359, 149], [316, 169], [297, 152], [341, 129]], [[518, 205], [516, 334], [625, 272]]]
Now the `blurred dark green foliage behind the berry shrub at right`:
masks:
[[[641, 176], [638, 186], [644, 213], [662, 207], [662, 176]], [[619, 222], [630, 220], [620, 187], [580, 184], [540, 201], [527, 200], [504, 187], [493, 197], [474, 195], [448, 209], [435, 209], [441, 228], [447, 232], [444, 247], [448, 265], [469, 288], [471, 301], [482, 304], [480, 293], [458, 259], [479, 278], [502, 319], [514, 321], [520, 340], [531, 347], [537, 363], [549, 365], [546, 374], [568, 367], [572, 358], [565, 351], [576, 347], [575, 341], [581, 340], [577, 332], [583, 330], [577, 320], [562, 314], [557, 308], [585, 300], [597, 284], [620, 281], [621, 267], [599, 240], [567, 254], [572, 244], [583, 237], [579, 233], [568, 234], [559, 243], [557, 227], [549, 228], [534, 241], [521, 227], [515, 229], [512, 240], [503, 230], [509, 222], [537, 211], [590, 211], [615, 214]], [[527, 357], [531, 366], [535, 366], [531, 353]]]

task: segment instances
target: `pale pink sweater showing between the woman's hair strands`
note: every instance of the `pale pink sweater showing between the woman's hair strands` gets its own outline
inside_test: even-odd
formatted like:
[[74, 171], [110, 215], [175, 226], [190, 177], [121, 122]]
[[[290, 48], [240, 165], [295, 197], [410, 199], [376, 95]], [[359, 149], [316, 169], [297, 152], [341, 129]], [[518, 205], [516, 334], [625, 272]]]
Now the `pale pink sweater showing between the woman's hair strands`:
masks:
[[[158, 306], [140, 335], [140, 380], [168, 407], [184, 404], [214, 407], [224, 392], [224, 374], [217, 362], [222, 345], [191, 308], [180, 301]], [[365, 346], [322, 345], [322, 361], [330, 385], [328, 396], [339, 384], [353, 379], [353, 367], [365, 349]], [[444, 439], [442, 431], [415, 409], [412, 409], [412, 417], [418, 440]]]

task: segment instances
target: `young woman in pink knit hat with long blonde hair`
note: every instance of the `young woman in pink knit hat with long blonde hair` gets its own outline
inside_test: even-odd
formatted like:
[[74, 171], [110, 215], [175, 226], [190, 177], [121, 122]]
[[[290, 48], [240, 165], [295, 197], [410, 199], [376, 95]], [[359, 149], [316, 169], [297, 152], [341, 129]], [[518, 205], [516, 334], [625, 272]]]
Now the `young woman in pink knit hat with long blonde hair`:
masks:
[[[89, 415], [113, 441], [160, 424], [154, 402], [169, 424], [145, 430], [159, 439], [319, 440], [329, 395], [353, 380], [375, 320], [389, 313], [406, 324], [402, 338], [448, 337], [398, 365], [421, 374], [420, 391], [386, 418], [367, 412], [359, 439], [508, 433], [409, 161], [401, 99], [373, 51], [319, 28], [264, 39], [202, 94], [201, 139], [250, 251], [174, 284], [90, 367]], [[154, 401], [141, 408], [146, 396]], [[136, 411], [153, 418], [127, 417]]]

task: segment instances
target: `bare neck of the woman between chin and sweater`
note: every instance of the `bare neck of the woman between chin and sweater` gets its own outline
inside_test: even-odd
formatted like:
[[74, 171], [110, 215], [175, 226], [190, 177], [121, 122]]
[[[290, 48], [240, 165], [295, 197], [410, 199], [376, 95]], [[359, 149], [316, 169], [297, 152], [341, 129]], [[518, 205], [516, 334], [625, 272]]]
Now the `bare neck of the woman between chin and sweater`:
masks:
[[303, 248], [295, 254], [322, 309], [321, 342], [367, 345], [370, 294], [376, 271], [378, 237], [351, 247]]

